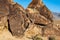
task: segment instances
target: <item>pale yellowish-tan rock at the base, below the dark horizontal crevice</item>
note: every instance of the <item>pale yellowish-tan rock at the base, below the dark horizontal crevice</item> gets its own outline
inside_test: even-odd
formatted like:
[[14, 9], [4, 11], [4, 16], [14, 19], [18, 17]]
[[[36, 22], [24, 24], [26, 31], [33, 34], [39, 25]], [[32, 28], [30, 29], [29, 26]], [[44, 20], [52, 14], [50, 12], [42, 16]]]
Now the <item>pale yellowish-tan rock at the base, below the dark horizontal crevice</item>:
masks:
[[42, 35], [42, 28], [39, 25], [29, 24], [29, 28], [25, 31], [25, 36], [27, 38], [33, 38], [36, 35]]

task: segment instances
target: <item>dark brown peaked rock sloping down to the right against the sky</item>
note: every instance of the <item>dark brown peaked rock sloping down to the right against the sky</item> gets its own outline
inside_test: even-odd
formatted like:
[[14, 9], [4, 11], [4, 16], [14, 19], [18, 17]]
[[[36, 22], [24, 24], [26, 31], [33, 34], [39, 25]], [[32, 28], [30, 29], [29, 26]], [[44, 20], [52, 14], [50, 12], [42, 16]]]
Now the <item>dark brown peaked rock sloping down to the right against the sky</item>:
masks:
[[42, 0], [32, 0], [28, 8], [36, 9], [40, 15], [47, 18], [47, 20], [53, 22], [53, 15], [50, 10], [43, 4]]

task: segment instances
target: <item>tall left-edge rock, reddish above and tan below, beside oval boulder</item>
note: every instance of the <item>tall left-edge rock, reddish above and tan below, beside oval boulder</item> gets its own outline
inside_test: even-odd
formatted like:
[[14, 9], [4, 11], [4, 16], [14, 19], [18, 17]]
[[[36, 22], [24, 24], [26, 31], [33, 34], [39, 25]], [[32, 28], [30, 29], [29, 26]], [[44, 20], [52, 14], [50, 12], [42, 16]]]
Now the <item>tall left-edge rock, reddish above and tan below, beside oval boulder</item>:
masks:
[[8, 28], [7, 15], [9, 14], [9, 4], [6, 0], [0, 0], [0, 30]]

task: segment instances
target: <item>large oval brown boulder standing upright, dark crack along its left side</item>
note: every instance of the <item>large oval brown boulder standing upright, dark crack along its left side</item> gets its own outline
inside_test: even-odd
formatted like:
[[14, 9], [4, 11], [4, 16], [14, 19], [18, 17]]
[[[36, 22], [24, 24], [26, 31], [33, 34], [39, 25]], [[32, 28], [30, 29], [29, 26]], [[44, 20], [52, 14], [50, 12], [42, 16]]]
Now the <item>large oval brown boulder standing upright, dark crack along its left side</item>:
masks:
[[[22, 36], [27, 28], [28, 21], [23, 7], [19, 4], [10, 5], [9, 14], [10, 30], [14, 36]], [[26, 24], [26, 25], [25, 25]]]

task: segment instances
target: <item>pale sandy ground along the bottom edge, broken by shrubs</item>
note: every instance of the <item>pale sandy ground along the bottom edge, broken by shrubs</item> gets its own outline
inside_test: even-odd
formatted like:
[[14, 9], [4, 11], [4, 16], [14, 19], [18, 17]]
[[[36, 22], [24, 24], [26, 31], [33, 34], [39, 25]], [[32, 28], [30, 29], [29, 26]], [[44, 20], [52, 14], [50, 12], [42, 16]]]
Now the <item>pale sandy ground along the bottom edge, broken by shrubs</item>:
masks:
[[[43, 40], [47, 40], [47, 37], [41, 37]], [[0, 31], [0, 40], [32, 40], [28, 39], [25, 36], [23, 38], [17, 38], [11, 35], [11, 33], [8, 30]]]

